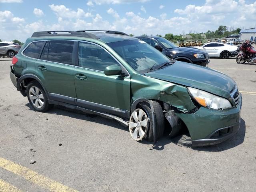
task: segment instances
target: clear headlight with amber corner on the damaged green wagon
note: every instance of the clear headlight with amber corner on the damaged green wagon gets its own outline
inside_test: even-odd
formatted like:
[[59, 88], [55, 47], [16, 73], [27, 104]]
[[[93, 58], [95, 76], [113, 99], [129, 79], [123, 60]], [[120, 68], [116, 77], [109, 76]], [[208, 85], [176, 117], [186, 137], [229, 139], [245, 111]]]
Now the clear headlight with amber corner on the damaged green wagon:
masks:
[[208, 92], [191, 87], [188, 87], [188, 92], [201, 106], [205, 108], [219, 110], [232, 107], [229, 100]]

